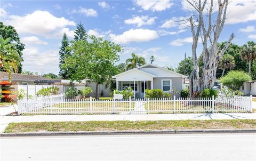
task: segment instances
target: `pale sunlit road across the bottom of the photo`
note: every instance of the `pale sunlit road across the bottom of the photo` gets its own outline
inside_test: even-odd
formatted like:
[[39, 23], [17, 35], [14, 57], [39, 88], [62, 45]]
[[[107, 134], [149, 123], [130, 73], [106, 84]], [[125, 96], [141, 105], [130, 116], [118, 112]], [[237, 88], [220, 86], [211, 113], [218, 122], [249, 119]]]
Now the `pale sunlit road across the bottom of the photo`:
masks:
[[256, 134], [1, 138], [0, 160], [256, 160]]

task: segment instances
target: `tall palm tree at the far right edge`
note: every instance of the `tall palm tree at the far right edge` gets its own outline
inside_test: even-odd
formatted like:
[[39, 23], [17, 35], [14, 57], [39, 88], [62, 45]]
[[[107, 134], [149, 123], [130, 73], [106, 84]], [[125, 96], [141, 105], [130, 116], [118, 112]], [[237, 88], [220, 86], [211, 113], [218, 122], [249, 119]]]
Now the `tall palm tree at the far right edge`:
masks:
[[249, 75], [251, 75], [252, 61], [256, 59], [256, 43], [249, 41], [247, 44], [244, 44], [240, 52], [240, 57], [242, 60], [249, 62]]

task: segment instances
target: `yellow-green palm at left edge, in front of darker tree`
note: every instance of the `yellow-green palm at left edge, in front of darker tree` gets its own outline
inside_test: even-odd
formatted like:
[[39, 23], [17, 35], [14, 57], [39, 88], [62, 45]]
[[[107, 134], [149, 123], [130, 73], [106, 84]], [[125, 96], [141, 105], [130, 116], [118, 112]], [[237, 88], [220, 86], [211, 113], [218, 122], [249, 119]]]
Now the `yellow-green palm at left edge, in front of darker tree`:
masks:
[[18, 72], [21, 62], [20, 55], [15, 49], [15, 44], [10, 43], [11, 38], [4, 39], [0, 35], [0, 69], [6, 71], [9, 75], [9, 81], [12, 79], [12, 71]]

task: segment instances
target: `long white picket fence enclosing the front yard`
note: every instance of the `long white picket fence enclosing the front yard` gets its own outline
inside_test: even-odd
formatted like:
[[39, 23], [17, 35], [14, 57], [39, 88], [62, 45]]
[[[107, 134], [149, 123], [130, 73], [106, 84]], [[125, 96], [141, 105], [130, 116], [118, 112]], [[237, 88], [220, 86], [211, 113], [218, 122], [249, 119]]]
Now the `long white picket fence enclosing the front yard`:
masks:
[[63, 94], [18, 101], [18, 114], [168, 114], [252, 112], [252, 96], [226, 98], [66, 99]]

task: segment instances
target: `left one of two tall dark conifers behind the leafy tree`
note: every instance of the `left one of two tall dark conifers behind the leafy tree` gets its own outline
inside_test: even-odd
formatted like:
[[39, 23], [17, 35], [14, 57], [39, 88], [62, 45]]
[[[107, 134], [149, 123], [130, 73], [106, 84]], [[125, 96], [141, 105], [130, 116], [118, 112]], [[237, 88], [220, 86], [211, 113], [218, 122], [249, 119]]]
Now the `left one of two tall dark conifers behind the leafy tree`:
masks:
[[61, 47], [60, 47], [60, 51], [59, 51], [59, 55], [60, 55], [60, 62], [59, 62], [60, 72], [59, 72], [59, 75], [63, 79], [69, 78], [68, 77], [68, 69], [64, 70], [62, 68], [62, 65], [64, 64], [64, 59], [67, 58], [71, 54], [69, 51], [66, 50], [67, 46], [69, 46], [69, 42], [68, 42], [68, 37], [65, 33], [63, 35], [62, 42], [61, 42]]

